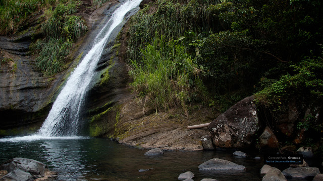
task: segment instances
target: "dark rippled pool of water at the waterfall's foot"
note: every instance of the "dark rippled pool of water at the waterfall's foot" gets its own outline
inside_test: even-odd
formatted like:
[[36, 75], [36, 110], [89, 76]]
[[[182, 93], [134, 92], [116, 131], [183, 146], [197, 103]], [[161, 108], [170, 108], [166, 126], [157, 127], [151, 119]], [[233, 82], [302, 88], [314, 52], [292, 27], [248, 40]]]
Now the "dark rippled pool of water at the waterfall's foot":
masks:
[[[177, 180], [180, 173], [192, 171], [194, 180], [261, 180], [263, 159], [232, 156], [233, 151], [167, 151], [160, 156], [145, 156], [146, 149], [130, 148], [100, 138], [40, 139], [0, 142], [0, 162], [14, 157], [41, 161], [59, 172], [59, 180]], [[244, 165], [245, 171], [199, 171], [198, 165], [221, 158]], [[149, 171], [139, 172], [139, 169]]]

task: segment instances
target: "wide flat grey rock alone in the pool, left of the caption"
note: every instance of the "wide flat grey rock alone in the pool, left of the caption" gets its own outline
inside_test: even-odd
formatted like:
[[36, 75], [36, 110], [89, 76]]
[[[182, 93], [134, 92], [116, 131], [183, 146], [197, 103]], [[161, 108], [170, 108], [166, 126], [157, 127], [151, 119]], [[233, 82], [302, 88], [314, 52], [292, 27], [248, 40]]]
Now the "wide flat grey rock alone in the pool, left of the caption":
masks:
[[246, 169], [243, 165], [238, 165], [234, 162], [213, 158], [198, 166], [200, 170], [244, 170]]

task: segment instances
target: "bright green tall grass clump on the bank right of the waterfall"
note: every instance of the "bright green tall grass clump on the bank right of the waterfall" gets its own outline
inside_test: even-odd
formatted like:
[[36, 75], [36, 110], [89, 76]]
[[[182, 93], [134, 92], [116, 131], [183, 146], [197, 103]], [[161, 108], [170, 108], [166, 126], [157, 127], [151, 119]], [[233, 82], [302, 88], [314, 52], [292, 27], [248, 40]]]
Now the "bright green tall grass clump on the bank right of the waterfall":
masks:
[[131, 87], [156, 110], [181, 106], [188, 115], [188, 104], [206, 99], [198, 69], [178, 41], [156, 36], [141, 53], [141, 61], [130, 61]]

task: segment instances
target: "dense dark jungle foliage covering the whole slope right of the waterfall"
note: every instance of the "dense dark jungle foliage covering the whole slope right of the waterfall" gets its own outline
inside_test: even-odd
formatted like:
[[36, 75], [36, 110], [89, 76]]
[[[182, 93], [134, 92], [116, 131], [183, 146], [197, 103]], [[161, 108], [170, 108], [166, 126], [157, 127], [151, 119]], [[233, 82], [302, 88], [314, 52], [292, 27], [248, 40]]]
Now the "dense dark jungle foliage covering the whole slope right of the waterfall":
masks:
[[[179, 94], [178, 87], [170, 85], [194, 67], [185, 91], [180, 91], [185, 104], [202, 101], [223, 112], [255, 94], [259, 104], [275, 111], [284, 109], [291, 96], [322, 100], [322, 17], [319, 0], [152, 1], [130, 21], [127, 56], [133, 65], [131, 72], [136, 72], [131, 73], [132, 86], [156, 109], [167, 109], [174, 100], [162, 106], [156, 100], [158, 94], [166, 94], [165, 84], [171, 87], [168, 97]], [[164, 42], [156, 43], [160, 38]], [[178, 59], [161, 47], [166, 41], [181, 45], [185, 51], [175, 54], [190, 59], [191, 65], [174, 63]], [[177, 74], [168, 73], [159, 87], [154, 74], [170, 68], [159, 66], [149, 72], [145, 64], [152, 57], [147, 55], [156, 50], [169, 56], [153, 56], [158, 59], [154, 61], [170, 61], [175, 69], [181, 68]], [[149, 80], [141, 81], [142, 74]], [[194, 80], [203, 82], [197, 86]], [[205, 98], [205, 87], [209, 98], [196, 99]], [[160, 89], [163, 93], [152, 91]]]

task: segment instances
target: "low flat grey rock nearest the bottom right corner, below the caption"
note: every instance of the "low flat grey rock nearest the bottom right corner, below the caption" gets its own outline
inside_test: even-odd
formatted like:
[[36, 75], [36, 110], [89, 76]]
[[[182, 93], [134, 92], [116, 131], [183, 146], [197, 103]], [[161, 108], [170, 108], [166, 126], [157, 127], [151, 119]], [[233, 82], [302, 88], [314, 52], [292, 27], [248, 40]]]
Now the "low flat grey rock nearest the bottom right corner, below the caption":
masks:
[[317, 174], [320, 174], [319, 169], [316, 167], [298, 167], [298, 168], [286, 168], [283, 170], [283, 174], [286, 177], [297, 177], [297, 178], [306, 178], [313, 177]]

